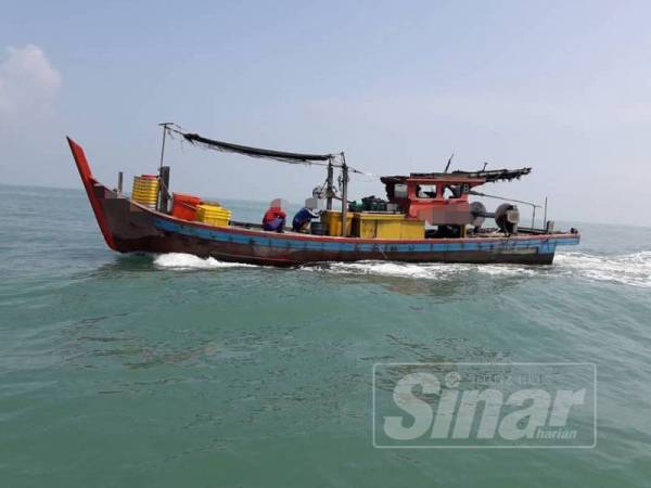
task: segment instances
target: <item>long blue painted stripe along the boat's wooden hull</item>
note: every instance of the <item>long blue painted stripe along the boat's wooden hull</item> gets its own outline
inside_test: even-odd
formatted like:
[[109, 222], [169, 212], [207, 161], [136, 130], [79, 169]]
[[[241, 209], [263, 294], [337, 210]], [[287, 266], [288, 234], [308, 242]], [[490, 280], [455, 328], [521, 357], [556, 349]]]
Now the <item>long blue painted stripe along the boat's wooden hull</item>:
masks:
[[285, 239], [282, 234], [270, 233], [269, 236], [245, 235], [224, 232], [219, 229], [205, 229], [184, 226], [165, 219], [155, 219], [154, 226], [167, 232], [224, 243], [244, 244], [250, 246], [268, 246], [292, 251], [328, 251], [328, 252], [383, 252], [383, 253], [450, 253], [463, 251], [484, 251], [501, 253], [509, 251], [537, 249], [538, 254], [552, 254], [559, 245], [576, 245], [578, 237], [561, 239], [496, 239], [478, 242], [423, 242], [423, 243], [350, 243], [317, 240]]

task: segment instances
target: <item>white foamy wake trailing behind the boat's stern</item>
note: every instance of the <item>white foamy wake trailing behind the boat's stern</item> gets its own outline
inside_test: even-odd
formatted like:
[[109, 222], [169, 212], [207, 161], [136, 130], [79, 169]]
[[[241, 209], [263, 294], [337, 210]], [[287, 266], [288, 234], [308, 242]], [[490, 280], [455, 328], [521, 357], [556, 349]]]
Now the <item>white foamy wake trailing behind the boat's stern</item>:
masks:
[[553, 266], [589, 280], [651, 287], [651, 251], [620, 256], [558, 253]]

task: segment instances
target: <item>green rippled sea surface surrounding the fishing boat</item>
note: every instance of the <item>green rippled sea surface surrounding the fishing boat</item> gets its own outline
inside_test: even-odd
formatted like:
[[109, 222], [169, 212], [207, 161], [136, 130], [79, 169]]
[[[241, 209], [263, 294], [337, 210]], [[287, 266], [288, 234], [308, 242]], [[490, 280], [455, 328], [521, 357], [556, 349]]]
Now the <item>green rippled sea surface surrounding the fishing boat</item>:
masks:
[[[78, 190], [0, 208], [2, 488], [651, 486], [651, 229], [288, 270], [113, 253]], [[375, 449], [378, 362], [595, 363], [597, 446]]]

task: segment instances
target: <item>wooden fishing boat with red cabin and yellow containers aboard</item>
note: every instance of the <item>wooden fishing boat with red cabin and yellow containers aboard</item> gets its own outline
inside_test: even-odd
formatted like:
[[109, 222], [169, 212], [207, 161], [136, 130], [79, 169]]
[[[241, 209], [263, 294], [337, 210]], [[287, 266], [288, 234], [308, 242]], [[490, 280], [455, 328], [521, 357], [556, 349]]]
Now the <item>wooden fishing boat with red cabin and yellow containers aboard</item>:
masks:
[[[412, 172], [381, 178], [386, 198], [348, 200], [349, 175], [362, 171], [346, 163], [344, 153], [303, 154], [232, 144], [162, 124], [163, 144], [156, 175], [135, 177], [130, 195], [92, 175], [84, 149], [67, 138], [81, 182], [102, 232], [119, 253], [188, 253], [224, 261], [295, 267], [328, 261], [406, 261], [551, 265], [558, 246], [576, 245], [579, 233], [553, 229], [547, 220], [535, 228], [540, 206], [522, 201], [487, 211], [471, 196], [496, 197], [476, 190], [485, 183], [512, 181], [532, 168], [514, 170]], [[169, 167], [164, 165], [165, 140], [290, 164], [320, 165], [324, 183], [315, 189], [310, 205], [320, 213], [308, 232], [268, 232], [257, 222], [231, 220], [224, 206], [201, 197], [169, 191]], [[339, 171], [339, 184], [335, 183]], [[520, 222], [518, 203], [532, 205], [531, 227]], [[335, 208], [335, 204], [336, 207]], [[280, 204], [279, 204], [280, 205]], [[485, 228], [485, 219], [496, 227]]]

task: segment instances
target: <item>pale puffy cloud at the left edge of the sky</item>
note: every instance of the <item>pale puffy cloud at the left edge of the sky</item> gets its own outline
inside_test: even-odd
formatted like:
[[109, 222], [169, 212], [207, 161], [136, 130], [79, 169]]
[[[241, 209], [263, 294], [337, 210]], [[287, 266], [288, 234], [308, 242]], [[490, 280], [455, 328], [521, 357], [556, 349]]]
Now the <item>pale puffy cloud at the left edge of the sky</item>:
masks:
[[9, 47], [0, 63], [0, 117], [39, 115], [51, 111], [61, 75], [41, 48]]

